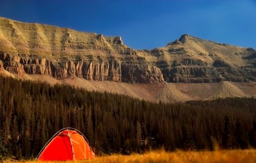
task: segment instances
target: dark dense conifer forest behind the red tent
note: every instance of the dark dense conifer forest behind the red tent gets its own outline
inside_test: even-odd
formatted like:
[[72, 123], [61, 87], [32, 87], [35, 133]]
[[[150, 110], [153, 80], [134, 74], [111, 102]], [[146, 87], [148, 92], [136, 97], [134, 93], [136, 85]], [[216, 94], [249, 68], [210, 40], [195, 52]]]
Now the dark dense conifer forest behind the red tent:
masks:
[[0, 77], [0, 157], [34, 158], [65, 127], [81, 131], [96, 155], [245, 149], [256, 147], [256, 99], [153, 103]]

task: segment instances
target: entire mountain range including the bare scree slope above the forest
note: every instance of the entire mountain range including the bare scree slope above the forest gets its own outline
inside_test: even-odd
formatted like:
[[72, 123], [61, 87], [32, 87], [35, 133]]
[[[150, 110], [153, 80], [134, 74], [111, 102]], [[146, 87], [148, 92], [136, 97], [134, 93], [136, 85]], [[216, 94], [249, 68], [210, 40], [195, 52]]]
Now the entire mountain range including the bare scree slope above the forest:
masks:
[[187, 34], [162, 48], [134, 50], [119, 36], [0, 18], [0, 52], [3, 75], [150, 101], [251, 97], [256, 92], [254, 49]]

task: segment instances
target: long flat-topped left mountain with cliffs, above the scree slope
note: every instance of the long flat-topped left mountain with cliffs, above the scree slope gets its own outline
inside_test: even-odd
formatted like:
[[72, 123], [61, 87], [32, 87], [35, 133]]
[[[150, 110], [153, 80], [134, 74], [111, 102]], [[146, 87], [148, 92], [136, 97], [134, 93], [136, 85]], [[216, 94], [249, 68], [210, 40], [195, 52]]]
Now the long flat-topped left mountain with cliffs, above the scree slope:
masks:
[[20, 76], [45, 74], [56, 79], [163, 82], [160, 69], [124, 45], [121, 37], [6, 18], [0, 19], [0, 29], [2, 66]]

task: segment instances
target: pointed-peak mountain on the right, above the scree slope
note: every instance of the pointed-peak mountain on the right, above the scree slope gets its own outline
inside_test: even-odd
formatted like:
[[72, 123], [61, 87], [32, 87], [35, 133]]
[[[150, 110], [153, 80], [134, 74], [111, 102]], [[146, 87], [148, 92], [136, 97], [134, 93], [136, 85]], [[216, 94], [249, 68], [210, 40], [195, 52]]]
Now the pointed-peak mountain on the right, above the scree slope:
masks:
[[256, 51], [184, 34], [150, 51], [167, 82], [247, 82], [256, 80]]

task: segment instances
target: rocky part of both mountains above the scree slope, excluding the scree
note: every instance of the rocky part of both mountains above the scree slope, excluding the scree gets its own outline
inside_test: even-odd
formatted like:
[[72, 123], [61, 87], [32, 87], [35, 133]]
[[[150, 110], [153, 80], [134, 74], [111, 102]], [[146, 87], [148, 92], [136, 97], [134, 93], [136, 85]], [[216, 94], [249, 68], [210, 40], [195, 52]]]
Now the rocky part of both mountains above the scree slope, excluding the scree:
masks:
[[121, 37], [0, 17], [0, 68], [24, 76], [129, 83], [256, 81], [256, 51], [187, 34], [163, 48], [134, 50]]

